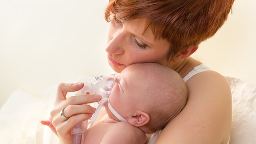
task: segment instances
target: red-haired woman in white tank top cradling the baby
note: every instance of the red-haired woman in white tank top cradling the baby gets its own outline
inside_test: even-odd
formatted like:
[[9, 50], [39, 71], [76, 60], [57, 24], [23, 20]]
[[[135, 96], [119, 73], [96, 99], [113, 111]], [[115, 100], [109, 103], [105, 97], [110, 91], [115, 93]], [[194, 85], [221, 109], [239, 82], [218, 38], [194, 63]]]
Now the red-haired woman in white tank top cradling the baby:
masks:
[[[156, 62], [178, 72], [189, 92], [184, 109], [160, 133], [155, 144], [227, 144], [231, 93], [225, 78], [190, 57], [227, 19], [234, 0], [110, 0], [108, 62], [121, 72], [132, 63]], [[95, 112], [99, 95], [74, 96], [83, 84], [60, 84], [51, 112], [52, 130], [62, 144], [70, 131]], [[64, 109], [65, 108], [65, 109]], [[61, 118], [60, 111], [69, 118]], [[102, 112], [102, 115], [104, 112]], [[49, 122], [48, 122], [48, 125]], [[150, 135], [148, 136], [148, 139]]]

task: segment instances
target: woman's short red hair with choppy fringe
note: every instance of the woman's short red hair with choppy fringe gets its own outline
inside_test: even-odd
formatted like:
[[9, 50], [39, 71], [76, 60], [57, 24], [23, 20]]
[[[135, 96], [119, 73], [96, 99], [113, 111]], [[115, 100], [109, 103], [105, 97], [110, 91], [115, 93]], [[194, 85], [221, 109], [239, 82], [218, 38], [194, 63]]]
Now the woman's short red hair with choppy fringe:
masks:
[[105, 19], [143, 19], [145, 31], [171, 43], [170, 57], [212, 37], [227, 20], [234, 0], [110, 0]]

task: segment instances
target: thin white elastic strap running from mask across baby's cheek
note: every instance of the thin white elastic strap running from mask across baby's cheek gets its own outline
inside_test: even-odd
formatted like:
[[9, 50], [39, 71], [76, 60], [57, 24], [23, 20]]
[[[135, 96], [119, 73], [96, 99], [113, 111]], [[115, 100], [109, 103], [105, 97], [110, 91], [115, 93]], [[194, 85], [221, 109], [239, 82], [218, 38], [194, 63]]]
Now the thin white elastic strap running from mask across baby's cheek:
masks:
[[96, 121], [98, 115], [99, 115], [99, 110], [102, 107], [102, 105], [108, 101], [108, 108], [109, 110], [113, 113], [113, 115], [116, 116], [116, 118], [118, 118], [120, 121], [124, 121], [124, 122], [128, 122], [126, 121], [121, 115], [119, 115], [118, 112], [116, 112], [115, 109], [113, 109], [113, 107], [111, 106], [110, 102], [109, 102], [109, 98], [103, 98], [100, 102], [99, 102], [99, 106], [97, 107], [96, 111], [94, 112], [94, 115], [92, 116], [91, 120], [88, 122], [87, 125], [89, 125], [91, 122]]

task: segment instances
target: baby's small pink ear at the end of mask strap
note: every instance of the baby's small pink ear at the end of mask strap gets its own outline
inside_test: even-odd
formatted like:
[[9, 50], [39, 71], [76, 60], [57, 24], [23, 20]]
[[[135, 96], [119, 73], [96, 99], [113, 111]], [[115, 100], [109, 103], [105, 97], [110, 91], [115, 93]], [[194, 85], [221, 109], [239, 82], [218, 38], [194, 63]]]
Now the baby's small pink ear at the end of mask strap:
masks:
[[149, 121], [149, 115], [143, 111], [138, 111], [136, 114], [128, 118], [128, 123], [134, 127], [140, 127], [147, 124]]

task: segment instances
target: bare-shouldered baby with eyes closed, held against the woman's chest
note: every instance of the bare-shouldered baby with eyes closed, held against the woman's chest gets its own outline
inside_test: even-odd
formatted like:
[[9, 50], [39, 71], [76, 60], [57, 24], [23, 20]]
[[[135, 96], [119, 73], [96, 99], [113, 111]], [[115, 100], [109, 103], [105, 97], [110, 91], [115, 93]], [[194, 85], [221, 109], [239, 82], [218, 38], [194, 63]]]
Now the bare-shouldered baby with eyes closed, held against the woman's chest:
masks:
[[163, 130], [186, 100], [186, 85], [177, 72], [157, 63], [132, 64], [116, 78], [110, 104], [105, 104], [107, 114], [87, 129], [84, 141], [144, 144], [145, 133]]

